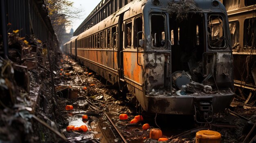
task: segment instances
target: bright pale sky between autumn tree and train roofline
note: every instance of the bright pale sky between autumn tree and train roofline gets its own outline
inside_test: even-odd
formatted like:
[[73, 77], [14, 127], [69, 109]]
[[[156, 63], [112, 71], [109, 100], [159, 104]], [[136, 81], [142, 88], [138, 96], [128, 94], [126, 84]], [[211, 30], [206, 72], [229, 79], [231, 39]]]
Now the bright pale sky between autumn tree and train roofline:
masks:
[[[91, 11], [101, 2], [101, 0], [70, 0], [74, 2], [73, 7], [77, 9], [81, 9], [82, 16], [79, 19], [72, 20], [72, 28], [74, 31], [78, 28], [78, 26], [85, 20], [85, 18], [91, 13]], [[67, 32], [70, 32], [71, 27], [67, 27]]]

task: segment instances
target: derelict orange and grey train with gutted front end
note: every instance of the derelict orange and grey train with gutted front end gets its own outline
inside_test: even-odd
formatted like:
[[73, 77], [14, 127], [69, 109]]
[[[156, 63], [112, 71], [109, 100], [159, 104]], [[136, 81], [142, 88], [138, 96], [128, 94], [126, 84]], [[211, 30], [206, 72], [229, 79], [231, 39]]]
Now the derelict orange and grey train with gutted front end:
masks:
[[234, 97], [229, 23], [218, 0], [133, 0], [63, 46], [128, 88], [147, 112], [208, 117]]

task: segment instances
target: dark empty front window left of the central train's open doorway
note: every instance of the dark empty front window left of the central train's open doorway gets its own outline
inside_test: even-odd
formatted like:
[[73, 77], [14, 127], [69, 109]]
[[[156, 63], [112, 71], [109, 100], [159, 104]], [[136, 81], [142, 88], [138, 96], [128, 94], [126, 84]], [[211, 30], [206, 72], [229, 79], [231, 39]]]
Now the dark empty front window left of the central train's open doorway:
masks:
[[150, 15], [151, 44], [154, 47], [164, 47], [166, 44], [166, 20], [163, 14]]

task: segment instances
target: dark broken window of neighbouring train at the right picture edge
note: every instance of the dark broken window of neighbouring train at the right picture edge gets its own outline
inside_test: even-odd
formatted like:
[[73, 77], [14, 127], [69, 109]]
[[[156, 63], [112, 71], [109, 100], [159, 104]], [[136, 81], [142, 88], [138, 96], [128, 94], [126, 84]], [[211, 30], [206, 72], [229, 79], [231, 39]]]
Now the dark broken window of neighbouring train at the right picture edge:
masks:
[[256, 48], [255, 33], [256, 33], [256, 18], [246, 19], [244, 22], [244, 47]]

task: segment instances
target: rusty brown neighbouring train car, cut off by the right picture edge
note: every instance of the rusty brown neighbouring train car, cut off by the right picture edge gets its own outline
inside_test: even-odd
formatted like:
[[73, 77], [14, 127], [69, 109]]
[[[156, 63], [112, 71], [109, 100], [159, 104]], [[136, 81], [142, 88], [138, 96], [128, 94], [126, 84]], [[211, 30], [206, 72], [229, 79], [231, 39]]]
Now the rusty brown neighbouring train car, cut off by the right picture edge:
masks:
[[[256, 1], [221, 0], [227, 9], [239, 102], [253, 104], [256, 87]], [[242, 101], [242, 102], [241, 102]]]

